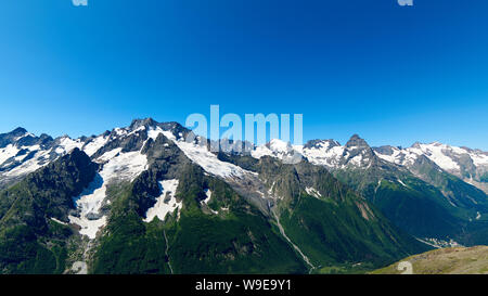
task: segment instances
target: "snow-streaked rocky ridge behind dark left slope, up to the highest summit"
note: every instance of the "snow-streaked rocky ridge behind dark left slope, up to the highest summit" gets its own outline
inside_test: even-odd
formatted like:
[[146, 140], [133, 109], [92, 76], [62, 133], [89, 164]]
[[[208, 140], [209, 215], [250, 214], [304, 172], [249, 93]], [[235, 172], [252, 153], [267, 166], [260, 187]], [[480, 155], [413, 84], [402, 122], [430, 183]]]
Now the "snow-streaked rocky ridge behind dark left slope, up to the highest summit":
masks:
[[36, 137], [24, 128], [16, 128], [0, 134], [0, 188], [12, 184], [74, 149], [84, 151], [93, 159], [115, 149], [124, 153], [140, 151], [149, 138], [155, 140], [163, 130], [177, 136], [187, 132], [177, 123], [158, 124], [152, 118], [136, 119], [127, 128], [115, 128], [100, 136], [78, 139], [68, 136], [53, 139], [48, 134]]

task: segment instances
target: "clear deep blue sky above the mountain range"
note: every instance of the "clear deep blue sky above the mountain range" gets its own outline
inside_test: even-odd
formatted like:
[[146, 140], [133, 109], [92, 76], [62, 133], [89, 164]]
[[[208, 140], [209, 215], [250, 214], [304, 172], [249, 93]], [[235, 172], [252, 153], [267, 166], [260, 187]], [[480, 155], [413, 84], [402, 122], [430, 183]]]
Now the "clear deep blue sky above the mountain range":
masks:
[[303, 113], [304, 137], [488, 151], [488, 1], [8, 0], [0, 132]]

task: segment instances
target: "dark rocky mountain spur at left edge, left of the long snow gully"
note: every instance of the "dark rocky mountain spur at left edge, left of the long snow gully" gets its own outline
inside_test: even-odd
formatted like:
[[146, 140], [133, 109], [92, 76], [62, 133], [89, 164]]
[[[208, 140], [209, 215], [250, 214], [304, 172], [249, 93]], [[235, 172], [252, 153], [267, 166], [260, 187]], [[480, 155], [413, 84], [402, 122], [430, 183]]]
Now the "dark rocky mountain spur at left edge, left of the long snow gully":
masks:
[[[98, 165], [75, 149], [54, 163], [0, 191], [2, 273], [62, 273], [73, 234], [52, 219], [68, 221], [73, 197], [93, 180]], [[12, 244], [15, 242], [15, 244]]]

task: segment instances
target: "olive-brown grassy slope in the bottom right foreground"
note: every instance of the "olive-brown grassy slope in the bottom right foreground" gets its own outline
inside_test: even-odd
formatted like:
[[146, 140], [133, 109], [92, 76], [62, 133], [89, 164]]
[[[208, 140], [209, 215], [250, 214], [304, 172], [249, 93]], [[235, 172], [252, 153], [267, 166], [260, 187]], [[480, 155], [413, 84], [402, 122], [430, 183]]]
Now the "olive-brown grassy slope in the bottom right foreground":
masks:
[[435, 249], [372, 273], [401, 274], [408, 270], [413, 274], [488, 274], [488, 246]]

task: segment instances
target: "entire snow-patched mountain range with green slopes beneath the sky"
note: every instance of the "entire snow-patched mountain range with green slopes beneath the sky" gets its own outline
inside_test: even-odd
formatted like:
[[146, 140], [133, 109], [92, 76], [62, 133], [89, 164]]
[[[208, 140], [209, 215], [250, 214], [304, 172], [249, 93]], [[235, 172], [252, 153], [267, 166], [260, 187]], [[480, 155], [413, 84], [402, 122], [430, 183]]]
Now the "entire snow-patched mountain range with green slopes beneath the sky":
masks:
[[0, 134], [0, 273], [357, 273], [488, 245], [487, 152], [210, 144], [151, 118]]

